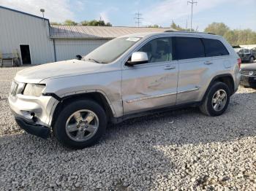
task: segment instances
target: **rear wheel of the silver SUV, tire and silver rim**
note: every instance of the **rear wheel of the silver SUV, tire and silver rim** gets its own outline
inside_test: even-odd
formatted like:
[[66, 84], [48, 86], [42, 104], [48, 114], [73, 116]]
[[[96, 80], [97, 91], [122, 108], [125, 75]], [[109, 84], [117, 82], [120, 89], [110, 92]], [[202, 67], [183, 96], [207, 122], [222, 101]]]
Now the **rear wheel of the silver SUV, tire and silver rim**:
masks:
[[200, 111], [208, 116], [219, 116], [223, 114], [230, 103], [230, 89], [222, 82], [215, 82], [210, 87]]

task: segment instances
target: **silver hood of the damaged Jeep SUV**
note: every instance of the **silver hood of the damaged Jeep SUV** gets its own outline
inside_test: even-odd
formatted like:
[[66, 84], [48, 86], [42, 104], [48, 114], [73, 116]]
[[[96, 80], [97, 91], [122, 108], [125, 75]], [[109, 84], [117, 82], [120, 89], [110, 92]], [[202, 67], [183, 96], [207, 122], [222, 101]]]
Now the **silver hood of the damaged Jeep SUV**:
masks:
[[39, 66], [33, 66], [29, 69], [18, 71], [15, 76], [17, 82], [38, 83], [42, 79], [52, 77], [66, 77], [78, 74], [90, 74], [99, 70], [102, 63], [93, 63], [88, 61], [69, 60], [55, 63], [45, 63]]

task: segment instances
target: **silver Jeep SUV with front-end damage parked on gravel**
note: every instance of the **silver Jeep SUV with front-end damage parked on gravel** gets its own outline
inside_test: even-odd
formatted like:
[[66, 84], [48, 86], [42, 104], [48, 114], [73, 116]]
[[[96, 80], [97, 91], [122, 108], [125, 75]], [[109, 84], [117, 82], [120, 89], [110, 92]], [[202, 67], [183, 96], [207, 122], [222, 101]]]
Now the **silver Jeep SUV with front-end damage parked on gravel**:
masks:
[[221, 36], [172, 32], [121, 36], [81, 60], [19, 71], [9, 96], [28, 133], [89, 147], [108, 122], [163, 108], [225, 112], [240, 81], [241, 59]]

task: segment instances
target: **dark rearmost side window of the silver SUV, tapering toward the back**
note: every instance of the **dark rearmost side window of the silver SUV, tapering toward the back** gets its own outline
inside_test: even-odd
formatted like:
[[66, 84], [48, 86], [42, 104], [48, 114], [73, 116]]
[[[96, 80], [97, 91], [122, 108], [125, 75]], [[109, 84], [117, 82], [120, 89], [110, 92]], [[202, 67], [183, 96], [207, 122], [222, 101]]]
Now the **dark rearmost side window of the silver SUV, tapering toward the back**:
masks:
[[229, 55], [226, 47], [217, 39], [203, 39], [206, 49], [206, 57]]

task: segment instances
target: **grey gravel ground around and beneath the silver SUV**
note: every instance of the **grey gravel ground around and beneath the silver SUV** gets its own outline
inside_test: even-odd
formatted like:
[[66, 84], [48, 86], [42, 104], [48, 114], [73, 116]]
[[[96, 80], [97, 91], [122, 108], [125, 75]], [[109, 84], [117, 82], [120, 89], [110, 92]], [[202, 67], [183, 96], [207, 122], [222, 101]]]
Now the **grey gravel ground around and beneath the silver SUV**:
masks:
[[240, 87], [220, 117], [183, 109], [127, 120], [83, 150], [15, 124], [0, 69], [0, 190], [256, 190], [256, 91]]

